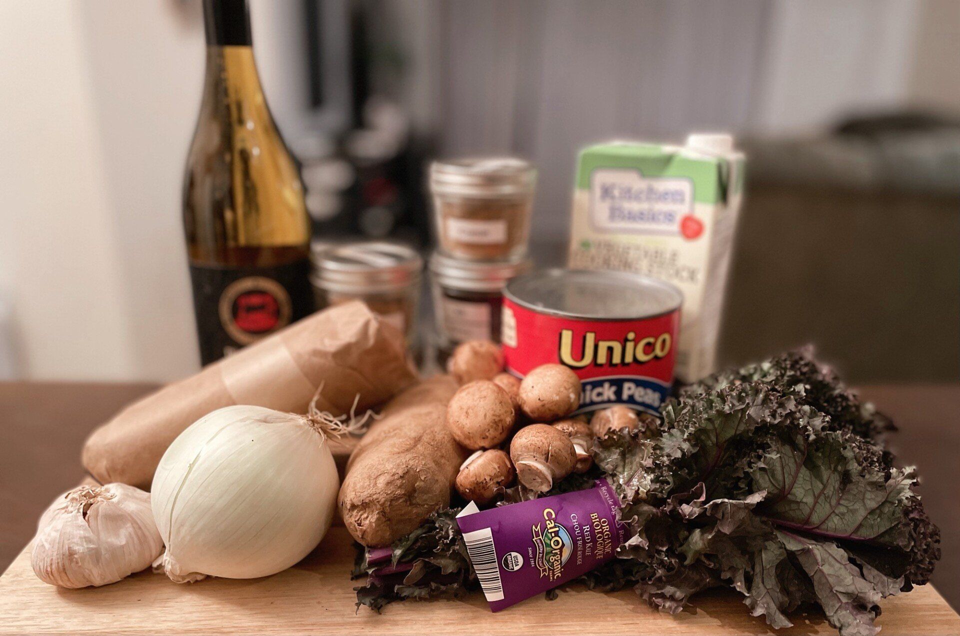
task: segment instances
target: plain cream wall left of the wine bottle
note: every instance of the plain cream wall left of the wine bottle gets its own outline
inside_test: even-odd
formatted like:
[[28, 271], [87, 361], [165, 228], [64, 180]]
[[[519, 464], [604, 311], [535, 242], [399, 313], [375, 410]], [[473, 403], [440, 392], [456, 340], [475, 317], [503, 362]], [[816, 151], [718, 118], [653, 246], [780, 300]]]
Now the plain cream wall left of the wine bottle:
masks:
[[19, 375], [197, 367], [180, 178], [201, 82], [192, 3], [0, 3], [0, 295]]

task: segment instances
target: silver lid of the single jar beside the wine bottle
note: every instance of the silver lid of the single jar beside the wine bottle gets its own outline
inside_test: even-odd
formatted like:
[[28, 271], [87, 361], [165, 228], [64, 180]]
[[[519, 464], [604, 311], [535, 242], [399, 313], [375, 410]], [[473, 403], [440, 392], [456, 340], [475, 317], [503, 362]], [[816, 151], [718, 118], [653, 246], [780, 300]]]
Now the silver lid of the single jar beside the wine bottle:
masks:
[[423, 259], [406, 245], [362, 241], [337, 245], [315, 244], [314, 286], [327, 291], [384, 292], [420, 281]]

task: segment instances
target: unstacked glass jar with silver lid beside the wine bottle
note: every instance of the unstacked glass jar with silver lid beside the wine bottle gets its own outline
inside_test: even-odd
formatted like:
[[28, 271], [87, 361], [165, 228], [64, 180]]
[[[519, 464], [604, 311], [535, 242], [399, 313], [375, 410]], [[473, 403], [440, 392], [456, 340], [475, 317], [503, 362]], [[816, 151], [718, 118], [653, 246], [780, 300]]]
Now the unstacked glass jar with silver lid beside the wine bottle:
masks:
[[423, 259], [405, 245], [364, 241], [313, 246], [317, 307], [360, 300], [403, 331], [407, 347], [417, 347], [417, 310]]

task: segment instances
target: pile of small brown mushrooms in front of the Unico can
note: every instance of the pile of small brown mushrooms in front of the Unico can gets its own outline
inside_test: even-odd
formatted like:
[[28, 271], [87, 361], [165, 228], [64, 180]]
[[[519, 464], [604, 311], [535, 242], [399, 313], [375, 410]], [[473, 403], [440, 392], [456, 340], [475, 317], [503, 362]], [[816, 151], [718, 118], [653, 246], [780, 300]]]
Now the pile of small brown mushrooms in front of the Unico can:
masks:
[[[593, 463], [595, 437], [628, 428], [651, 436], [657, 418], [628, 406], [586, 416], [580, 406], [580, 378], [563, 364], [543, 364], [523, 379], [503, 370], [503, 353], [486, 340], [458, 346], [447, 372], [461, 386], [446, 410], [446, 426], [464, 448], [475, 451], [460, 467], [457, 492], [484, 505], [518, 480], [543, 493], [570, 473]], [[509, 452], [509, 453], [508, 453]]]

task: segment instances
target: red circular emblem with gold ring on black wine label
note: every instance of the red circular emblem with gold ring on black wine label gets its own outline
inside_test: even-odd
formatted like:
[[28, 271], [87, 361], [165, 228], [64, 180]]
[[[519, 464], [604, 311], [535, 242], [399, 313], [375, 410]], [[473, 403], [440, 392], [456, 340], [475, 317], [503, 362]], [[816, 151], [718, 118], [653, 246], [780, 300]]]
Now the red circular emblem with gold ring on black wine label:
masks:
[[228, 284], [218, 308], [224, 329], [243, 345], [286, 327], [293, 313], [290, 295], [283, 285], [262, 276]]

